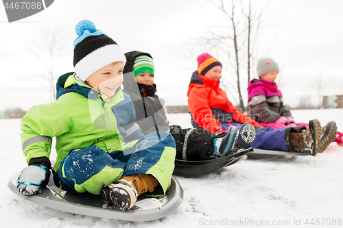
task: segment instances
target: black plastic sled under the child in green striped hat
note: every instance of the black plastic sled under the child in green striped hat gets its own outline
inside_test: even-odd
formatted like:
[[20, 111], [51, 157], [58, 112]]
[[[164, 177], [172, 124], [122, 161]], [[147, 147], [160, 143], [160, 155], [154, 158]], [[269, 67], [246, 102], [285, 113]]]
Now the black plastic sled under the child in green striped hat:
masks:
[[220, 168], [225, 166], [230, 166], [239, 162], [240, 160], [245, 160], [248, 153], [252, 153], [253, 149], [248, 148], [244, 151], [240, 151], [233, 155], [228, 155], [226, 157], [220, 157], [213, 160], [204, 161], [185, 161], [185, 160], [175, 160], [175, 168], [173, 175], [181, 177], [200, 177], [202, 175], [208, 175], [213, 173]]

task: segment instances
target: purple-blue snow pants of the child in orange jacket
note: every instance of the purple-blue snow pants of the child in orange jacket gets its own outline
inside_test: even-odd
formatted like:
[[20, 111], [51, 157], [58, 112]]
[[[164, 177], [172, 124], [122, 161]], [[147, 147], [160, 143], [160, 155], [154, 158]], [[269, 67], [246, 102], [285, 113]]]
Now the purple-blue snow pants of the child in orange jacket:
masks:
[[[240, 128], [241, 125], [241, 123], [221, 123], [220, 127], [226, 130], [230, 126]], [[265, 127], [263, 129], [258, 127], [255, 142], [252, 143], [251, 147], [271, 151], [289, 151], [286, 147], [285, 131], [286, 128], [274, 129], [272, 127]]]

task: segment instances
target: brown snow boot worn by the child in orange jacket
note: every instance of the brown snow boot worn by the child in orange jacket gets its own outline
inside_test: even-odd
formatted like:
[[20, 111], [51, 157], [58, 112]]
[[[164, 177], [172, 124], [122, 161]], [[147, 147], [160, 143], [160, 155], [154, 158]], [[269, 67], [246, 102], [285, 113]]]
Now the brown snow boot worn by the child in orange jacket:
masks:
[[[300, 133], [291, 132], [289, 134], [289, 142], [294, 151], [302, 152], [309, 151], [311, 155], [316, 155], [320, 152], [320, 135], [322, 127], [317, 119], [309, 121], [309, 127]], [[321, 153], [321, 152], [320, 152]]]

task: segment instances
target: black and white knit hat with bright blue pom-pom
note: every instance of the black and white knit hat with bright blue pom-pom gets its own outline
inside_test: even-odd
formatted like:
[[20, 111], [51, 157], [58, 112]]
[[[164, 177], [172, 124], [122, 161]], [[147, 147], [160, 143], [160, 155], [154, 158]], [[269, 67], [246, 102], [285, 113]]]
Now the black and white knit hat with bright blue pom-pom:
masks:
[[75, 27], [78, 38], [74, 40], [74, 68], [76, 75], [86, 81], [95, 71], [126, 58], [113, 39], [97, 29], [93, 22], [82, 20]]

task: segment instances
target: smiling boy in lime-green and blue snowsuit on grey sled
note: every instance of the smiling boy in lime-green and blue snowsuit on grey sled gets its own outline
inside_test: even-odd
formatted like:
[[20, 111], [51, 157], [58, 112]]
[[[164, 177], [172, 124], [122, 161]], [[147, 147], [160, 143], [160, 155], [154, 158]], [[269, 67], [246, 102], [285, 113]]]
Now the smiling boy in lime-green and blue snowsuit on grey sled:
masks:
[[91, 21], [80, 21], [75, 31], [75, 73], [58, 79], [57, 101], [32, 107], [21, 122], [29, 166], [17, 188], [32, 195], [47, 185], [56, 137], [56, 186], [101, 194], [105, 203], [129, 210], [139, 194], [165, 194], [175, 142], [165, 131], [144, 136], [134, 122], [134, 105], [120, 88], [126, 58], [117, 43]]

